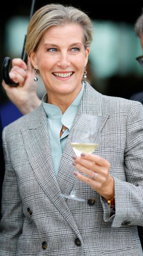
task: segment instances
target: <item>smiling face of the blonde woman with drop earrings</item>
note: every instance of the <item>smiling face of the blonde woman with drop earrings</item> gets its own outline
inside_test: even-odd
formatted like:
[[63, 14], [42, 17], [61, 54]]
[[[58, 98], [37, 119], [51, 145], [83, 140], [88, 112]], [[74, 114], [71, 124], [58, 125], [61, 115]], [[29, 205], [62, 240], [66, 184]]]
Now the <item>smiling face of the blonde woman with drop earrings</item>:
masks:
[[82, 86], [88, 54], [89, 48], [85, 49], [83, 44], [82, 27], [65, 24], [47, 29], [37, 51], [30, 57], [48, 93], [77, 94]]

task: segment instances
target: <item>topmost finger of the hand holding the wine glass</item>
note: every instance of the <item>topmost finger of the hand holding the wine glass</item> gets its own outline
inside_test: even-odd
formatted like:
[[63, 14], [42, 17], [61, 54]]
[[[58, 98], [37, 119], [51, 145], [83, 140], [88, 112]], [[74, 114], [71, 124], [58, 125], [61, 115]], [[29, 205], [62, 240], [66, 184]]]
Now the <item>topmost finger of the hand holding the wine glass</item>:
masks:
[[97, 156], [97, 155], [93, 155], [91, 153], [81, 153], [80, 157], [93, 161], [95, 162], [97, 165], [99, 166], [107, 166], [110, 167], [110, 164], [107, 160], [105, 160], [104, 158]]

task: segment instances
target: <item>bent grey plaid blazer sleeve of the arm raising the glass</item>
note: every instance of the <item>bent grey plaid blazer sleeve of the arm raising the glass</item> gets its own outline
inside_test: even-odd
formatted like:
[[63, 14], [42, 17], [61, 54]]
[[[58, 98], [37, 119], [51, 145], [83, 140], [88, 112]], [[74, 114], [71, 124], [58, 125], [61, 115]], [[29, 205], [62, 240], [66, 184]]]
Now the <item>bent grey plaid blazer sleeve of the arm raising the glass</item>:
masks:
[[143, 226], [143, 105], [139, 102], [132, 102], [126, 119], [124, 170], [126, 181], [113, 177], [114, 215], [109, 217], [109, 209], [101, 198], [104, 220], [112, 221], [114, 228]]

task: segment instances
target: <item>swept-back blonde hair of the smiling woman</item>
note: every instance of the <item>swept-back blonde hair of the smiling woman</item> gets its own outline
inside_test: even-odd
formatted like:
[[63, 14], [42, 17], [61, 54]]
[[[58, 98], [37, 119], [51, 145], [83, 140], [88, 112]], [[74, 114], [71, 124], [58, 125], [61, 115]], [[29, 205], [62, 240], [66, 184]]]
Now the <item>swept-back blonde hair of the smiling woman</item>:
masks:
[[91, 45], [92, 22], [86, 13], [72, 6], [47, 4], [38, 9], [29, 22], [25, 42], [27, 55], [37, 50], [42, 35], [48, 28], [61, 26], [66, 23], [79, 24], [83, 28], [83, 43], [85, 49]]

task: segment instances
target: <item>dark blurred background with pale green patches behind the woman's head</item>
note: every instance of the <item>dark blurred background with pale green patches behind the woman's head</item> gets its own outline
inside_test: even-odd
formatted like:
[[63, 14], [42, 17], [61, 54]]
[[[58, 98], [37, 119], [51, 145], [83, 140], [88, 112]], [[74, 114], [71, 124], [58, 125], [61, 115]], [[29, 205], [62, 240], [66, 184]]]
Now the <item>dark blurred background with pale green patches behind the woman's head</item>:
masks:
[[[139, 38], [135, 36], [134, 24], [141, 14], [143, 1], [127, 4], [124, 1], [60, 1], [85, 11], [93, 21], [93, 44], [89, 55], [88, 80], [99, 92], [129, 99], [143, 90], [143, 68], [135, 60], [143, 54]], [[35, 1], [37, 10], [42, 5], [57, 1]], [[0, 10], [0, 67], [4, 57], [19, 58], [29, 22], [31, 1], [4, 1]], [[2, 75], [0, 72], [0, 83]], [[41, 98], [44, 87], [38, 83]], [[3, 116], [8, 99], [0, 86], [0, 106]], [[15, 107], [14, 107], [15, 109]], [[10, 108], [11, 121], [14, 117]], [[19, 116], [21, 114], [19, 113]], [[9, 122], [9, 121], [8, 121]]]

